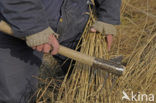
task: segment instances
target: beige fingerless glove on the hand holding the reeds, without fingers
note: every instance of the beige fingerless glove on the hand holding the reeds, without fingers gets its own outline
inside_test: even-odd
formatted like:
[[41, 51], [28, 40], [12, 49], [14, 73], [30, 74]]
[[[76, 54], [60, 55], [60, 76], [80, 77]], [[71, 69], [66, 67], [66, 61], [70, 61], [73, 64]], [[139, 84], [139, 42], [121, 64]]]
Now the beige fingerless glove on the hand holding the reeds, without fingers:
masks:
[[112, 24], [104, 23], [102, 21], [95, 21], [92, 25], [92, 28], [96, 29], [98, 32], [102, 33], [103, 35], [116, 35], [116, 28]]

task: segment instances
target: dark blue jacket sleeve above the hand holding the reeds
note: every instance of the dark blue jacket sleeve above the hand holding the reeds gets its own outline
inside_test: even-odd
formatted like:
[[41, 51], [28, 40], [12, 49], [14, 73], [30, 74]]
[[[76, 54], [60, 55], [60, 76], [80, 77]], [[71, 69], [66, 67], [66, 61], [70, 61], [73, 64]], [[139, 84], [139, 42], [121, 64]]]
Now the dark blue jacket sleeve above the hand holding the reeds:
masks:
[[120, 24], [121, 0], [95, 0], [96, 13], [99, 21], [108, 24]]

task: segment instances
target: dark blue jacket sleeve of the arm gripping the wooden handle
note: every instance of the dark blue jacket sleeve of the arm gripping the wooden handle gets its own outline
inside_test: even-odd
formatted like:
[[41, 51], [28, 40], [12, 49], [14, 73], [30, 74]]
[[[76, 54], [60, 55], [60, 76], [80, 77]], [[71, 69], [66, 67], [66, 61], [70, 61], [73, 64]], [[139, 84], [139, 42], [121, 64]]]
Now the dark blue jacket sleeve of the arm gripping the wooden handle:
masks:
[[40, 0], [0, 0], [0, 13], [18, 38], [49, 26]]

